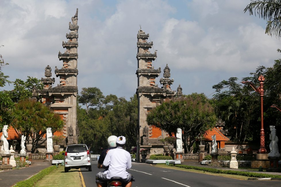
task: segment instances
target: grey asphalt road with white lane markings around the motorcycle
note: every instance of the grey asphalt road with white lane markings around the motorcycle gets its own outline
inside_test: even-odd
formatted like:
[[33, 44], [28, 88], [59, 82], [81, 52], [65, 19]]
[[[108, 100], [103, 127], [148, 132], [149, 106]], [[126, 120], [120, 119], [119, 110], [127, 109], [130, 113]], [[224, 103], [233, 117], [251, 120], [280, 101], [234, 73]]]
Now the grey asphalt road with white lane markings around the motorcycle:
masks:
[[[97, 168], [97, 161], [92, 162], [92, 172], [81, 169], [86, 187], [95, 186], [95, 175], [101, 171]], [[193, 172], [184, 172], [180, 170], [165, 169], [154, 167], [145, 163], [132, 163], [132, 168], [128, 170], [135, 178], [133, 187], [237, 187], [237, 186], [255, 186], [255, 187], [276, 187], [281, 185], [281, 181], [257, 181], [257, 180], [238, 180], [213, 176], [207, 174], [198, 174]]]

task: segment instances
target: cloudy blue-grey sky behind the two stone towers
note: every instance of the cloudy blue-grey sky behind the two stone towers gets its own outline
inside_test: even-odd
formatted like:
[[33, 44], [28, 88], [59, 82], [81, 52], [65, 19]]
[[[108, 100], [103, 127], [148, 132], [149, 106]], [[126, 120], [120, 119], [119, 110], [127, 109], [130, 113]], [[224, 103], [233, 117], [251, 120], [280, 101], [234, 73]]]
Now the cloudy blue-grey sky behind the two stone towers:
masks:
[[[170, 67], [172, 90], [205, 93], [230, 77], [248, 77], [280, 59], [280, 40], [265, 34], [266, 20], [244, 13], [250, 0], [1, 0], [0, 54], [10, 81], [45, 77], [62, 67], [68, 23], [78, 8], [78, 90], [130, 99], [137, 89], [137, 33], [149, 33], [152, 66]], [[55, 85], [59, 77], [55, 77]], [[12, 90], [6, 85], [1, 90]]]

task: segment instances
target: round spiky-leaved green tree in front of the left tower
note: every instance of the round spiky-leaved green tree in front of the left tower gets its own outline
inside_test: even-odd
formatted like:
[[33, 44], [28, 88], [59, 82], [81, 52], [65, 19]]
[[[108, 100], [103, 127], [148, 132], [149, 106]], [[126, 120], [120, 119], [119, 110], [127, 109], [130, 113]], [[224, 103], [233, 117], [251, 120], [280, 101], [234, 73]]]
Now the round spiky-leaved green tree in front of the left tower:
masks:
[[26, 136], [27, 144], [32, 144], [32, 153], [35, 149], [45, 143], [42, 141], [46, 134], [47, 127], [52, 128], [52, 132], [60, 131], [64, 122], [59, 114], [49, 110], [41, 102], [32, 100], [20, 100], [13, 110], [14, 120], [12, 122], [18, 135]]

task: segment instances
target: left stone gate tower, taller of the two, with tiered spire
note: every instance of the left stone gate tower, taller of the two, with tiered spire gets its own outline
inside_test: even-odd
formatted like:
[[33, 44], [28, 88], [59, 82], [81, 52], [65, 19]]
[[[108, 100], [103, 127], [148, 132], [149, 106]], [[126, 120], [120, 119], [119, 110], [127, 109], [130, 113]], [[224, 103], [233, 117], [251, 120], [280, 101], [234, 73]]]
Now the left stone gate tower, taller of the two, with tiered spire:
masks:
[[44, 84], [44, 89], [38, 91], [42, 96], [41, 102], [49, 105], [54, 112], [60, 114], [61, 118], [65, 121], [62, 135], [67, 137], [66, 142], [68, 145], [77, 143], [78, 139], [78, 126], [77, 126], [77, 47], [78, 47], [78, 9], [76, 14], [69, 22], [70, 32], [66, 34], [67, 42], [62, 42], [63, 48], [66, 48], [64, 53], [59, 51], [58, 58], [63, 62], [62, 67], [59, 69], [55, 67], [56, 77], [59, 77], [59, 84], [52, 87], [54, 78], [51, 79], [51, 67], [49, 65], [45, 69], [46, 78], [41, 81]]

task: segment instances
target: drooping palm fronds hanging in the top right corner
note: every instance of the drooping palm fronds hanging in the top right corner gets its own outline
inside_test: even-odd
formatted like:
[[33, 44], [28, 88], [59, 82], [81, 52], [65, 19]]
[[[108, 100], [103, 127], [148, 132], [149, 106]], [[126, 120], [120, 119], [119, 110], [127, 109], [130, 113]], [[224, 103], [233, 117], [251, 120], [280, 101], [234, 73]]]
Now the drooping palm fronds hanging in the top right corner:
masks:
[[252, 1], [244, 9], [249, 11], [250, 15], [259, 15], [260, 18], [267, 21], [265, 33], [277, 38], [281, 37], [281, 1], [280, 0], [257, 0]]

